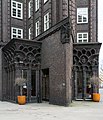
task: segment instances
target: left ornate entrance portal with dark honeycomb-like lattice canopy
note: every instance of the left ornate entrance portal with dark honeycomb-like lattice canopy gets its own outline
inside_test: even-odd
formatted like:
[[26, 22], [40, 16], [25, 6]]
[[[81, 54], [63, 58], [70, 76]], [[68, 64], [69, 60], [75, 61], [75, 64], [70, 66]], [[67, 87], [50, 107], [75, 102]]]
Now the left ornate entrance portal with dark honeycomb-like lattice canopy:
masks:
[[23, 77], [27, 83], [23, 94], [27, 102], [41, 101], [41, 42], [12, 39], [3, 51], [3, 100], [16, 102], [19, 87], [15, 79]]

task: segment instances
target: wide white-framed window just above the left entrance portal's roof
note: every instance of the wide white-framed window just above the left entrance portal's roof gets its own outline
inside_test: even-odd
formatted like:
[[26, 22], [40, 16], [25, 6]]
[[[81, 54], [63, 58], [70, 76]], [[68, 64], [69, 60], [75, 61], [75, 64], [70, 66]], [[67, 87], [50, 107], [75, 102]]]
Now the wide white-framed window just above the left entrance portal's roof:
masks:
[[23, 38], [23, 29], [12, 27], [11, 38]]

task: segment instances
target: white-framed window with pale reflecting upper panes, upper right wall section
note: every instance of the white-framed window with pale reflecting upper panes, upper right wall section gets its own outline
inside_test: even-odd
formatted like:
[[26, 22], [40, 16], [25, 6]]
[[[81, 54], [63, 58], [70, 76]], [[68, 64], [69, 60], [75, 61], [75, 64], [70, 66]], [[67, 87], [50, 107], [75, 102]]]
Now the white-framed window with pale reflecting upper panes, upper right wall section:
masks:
[[88, 23], [88, 8], [77, 8], [77, 23]]

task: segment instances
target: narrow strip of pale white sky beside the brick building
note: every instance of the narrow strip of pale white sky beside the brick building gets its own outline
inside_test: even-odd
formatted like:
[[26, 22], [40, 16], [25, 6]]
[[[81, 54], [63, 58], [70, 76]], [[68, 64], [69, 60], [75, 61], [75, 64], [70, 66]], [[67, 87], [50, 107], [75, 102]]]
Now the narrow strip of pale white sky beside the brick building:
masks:
[[[103, 0], [98, 0], [98, 41], [103, 44]], [[103, 45], [100, 49], [99, 63], [103, 65]]]

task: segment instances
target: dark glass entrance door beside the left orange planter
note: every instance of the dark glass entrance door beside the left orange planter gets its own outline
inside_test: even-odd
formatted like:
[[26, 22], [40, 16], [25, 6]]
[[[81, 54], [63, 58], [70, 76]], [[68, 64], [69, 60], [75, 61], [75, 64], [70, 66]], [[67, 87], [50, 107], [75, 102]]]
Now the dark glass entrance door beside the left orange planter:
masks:
[[36, 101], [36, 71], [22, 70], [22, 76], [27, 80], [27, 83], [25, 83], [23, 86], [23, 95], [26, 95], [27, 102]]

